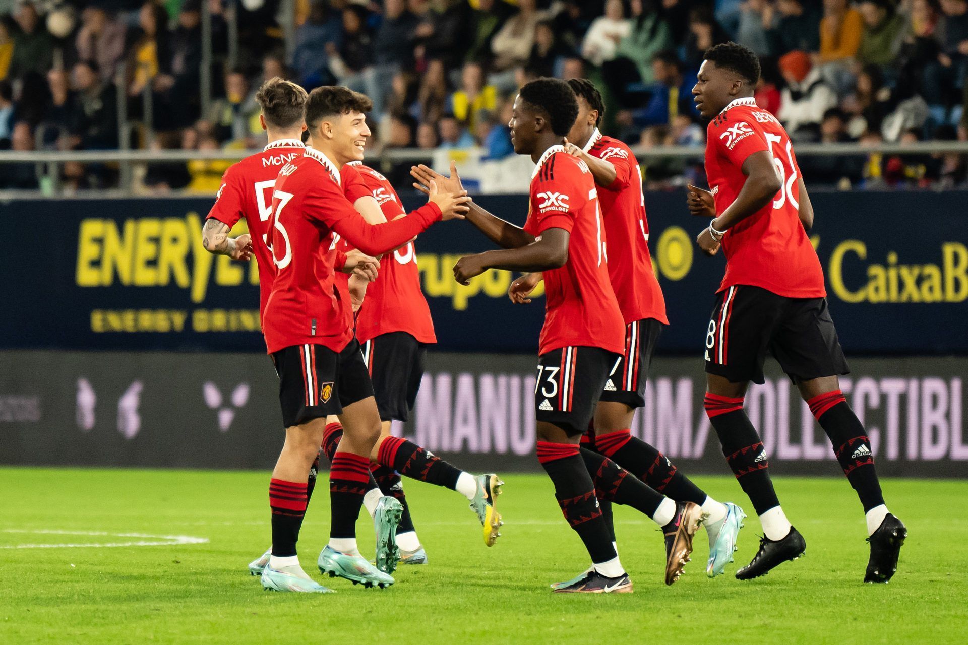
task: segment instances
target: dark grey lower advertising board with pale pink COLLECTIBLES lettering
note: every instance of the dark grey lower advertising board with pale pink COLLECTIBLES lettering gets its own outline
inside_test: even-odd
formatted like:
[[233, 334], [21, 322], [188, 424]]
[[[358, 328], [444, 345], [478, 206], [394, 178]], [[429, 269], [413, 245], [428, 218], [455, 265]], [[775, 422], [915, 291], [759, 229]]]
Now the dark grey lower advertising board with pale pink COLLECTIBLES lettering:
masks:
[[[431, 353], [408, 424], [394, 433], [472, 471], [537, 471], [535, 359]], [[883, 475], [968, 477], [968, 358], [851, 361], [842, 389]], [[659, 358], [632, 431], [690, 473], [726, 473], [703, 409], [698, 357]], [[278, 381], [239, 353], [0, 351], [0, 463], [272, 467], [283, 441]], [[830, 443], [775, 365], [746, 396], [777, 474], [838, 475]]]

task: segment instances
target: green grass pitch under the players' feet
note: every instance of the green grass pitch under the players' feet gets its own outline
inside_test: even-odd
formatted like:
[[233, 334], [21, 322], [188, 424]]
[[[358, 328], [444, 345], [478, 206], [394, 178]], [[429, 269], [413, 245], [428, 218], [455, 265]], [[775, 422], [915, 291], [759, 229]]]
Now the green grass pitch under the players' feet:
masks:
[[[246, 571], [269, 541], [267, 473], [3, 468], [0, 643], [965, 642], [968, 482], [884, 482], [910, 532], [889, 585], [861, 582], [867, 546], [848, 484], [782, 478], [780, 498], [807, 542], [801, 560], [736, 580], [756, 550], [752, 517], [727, 575], [706, 578], [701, 530], [693, 562], [666, 587], [661, 536], [620, 508], [620, 554], [635, 593], [557, 596], [548, 583], [588, 564], [581, 543], [545, 477], [503, 479], [506, 524], [490, 549], [462, 497], [406, 481], [430, 565], [399, 571], [383, 591], [318, 575], [329, 514], [321, 484], [301, 559], [339, 593], [303, 596], [263, 592]], [[749, 508], [733, 478], [697, 482]], [[367, 553], [373, 531], [362, 514]], [[132, 533], [139, 535], [124, 535]], [[166, 541], [144, 536], [207, 542], [86, 546]], [[23, 544], [81, 545], [13, 548]]]

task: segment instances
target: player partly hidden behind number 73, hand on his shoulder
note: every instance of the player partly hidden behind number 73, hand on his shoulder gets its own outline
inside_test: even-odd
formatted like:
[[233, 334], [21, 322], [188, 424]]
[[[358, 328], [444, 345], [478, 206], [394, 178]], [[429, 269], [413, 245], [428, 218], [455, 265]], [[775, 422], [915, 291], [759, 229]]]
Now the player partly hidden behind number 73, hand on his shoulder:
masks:
[[[608, 273], [625, 326], [625, 353], [612, 368], [593, 426], [582, 437], [583, 448], [610, 457], [654, 490], [678, 502], [698, 504], [707, 515], [703, 525], [710, 540], [706, 574], [715, 577], [733, 561], [736, 540], [745, 515], [734, 504], [715, 501], [686, 478], [664, 454], [631, 435], [635, 410], [646, 404], [646, 381], [655, 342], [669, 321], [665, 300], [652, 271], [649, 220], [642, 192], [642, 174], [631, 149], [619, 139], [598, 131], [605, 105], [587, 78], [571, 78], [578, 98], [578, 118], [568, 132], [568, 154], [589, 166], [602, 220], [605, 224]], [[508, 289], [511, 302], [524, 303], [541, 279], [529, 274]], [[599, 500], [615, 541], [611, 503]]]

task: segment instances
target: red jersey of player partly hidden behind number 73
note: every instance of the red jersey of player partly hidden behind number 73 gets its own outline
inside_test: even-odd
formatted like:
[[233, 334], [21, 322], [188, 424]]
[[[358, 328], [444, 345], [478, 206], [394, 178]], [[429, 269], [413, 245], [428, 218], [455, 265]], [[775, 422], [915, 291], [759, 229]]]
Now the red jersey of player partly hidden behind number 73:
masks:
[[642, 171], [632, 150], [619, 139], [591, 134], [585, 152], [615, 167], [615, 181], [600, 187], [598, 200], [605, 220], [608, 273], [625, 324], [654, 318], [669, 324], [665, 299], [652, 271], [649, 220], [642, 192]]

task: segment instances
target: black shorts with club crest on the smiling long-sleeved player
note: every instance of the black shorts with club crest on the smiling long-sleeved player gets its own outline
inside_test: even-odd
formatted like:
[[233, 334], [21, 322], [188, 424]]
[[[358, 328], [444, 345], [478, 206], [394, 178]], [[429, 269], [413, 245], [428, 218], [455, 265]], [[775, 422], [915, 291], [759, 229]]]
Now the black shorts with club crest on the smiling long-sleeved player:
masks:
[[340, 414], [350, 403], [373, 396], [356, 338], [338, 354], [323, 345], [293, 345], [274, 352], [272, 362], [285, 427]]

